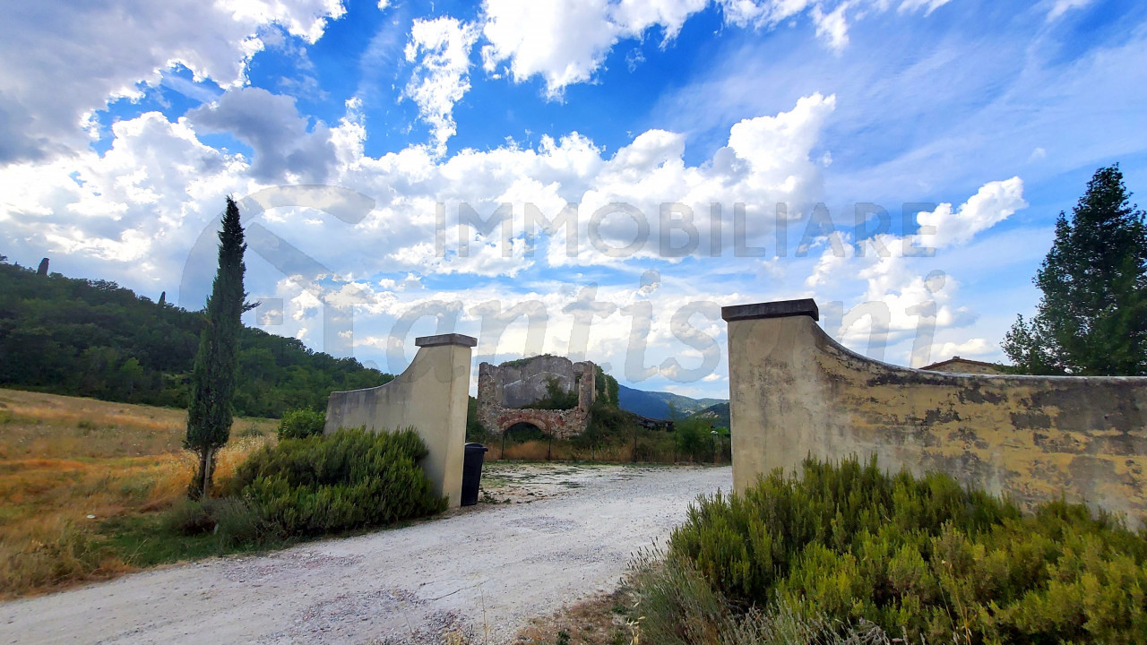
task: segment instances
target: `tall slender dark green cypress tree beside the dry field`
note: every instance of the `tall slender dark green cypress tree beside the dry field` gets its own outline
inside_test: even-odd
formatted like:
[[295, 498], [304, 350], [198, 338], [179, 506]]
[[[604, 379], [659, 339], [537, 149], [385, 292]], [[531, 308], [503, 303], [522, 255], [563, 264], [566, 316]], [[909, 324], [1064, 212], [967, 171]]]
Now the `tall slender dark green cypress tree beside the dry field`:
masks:
[[192, 370], [192, 401], [187, 409], [184, 448], [200, 459], [190, 487], [193, 497], [205, 498], [211, 491], [214, 457], [231, 437], [239, 334], [247, 295], [243, 293], [244, 250], [239, 207], [227, 197], [223, 231], [219, 232], [219, 269], [208, 298], [206, 327], [200, 336], [200, 351]]

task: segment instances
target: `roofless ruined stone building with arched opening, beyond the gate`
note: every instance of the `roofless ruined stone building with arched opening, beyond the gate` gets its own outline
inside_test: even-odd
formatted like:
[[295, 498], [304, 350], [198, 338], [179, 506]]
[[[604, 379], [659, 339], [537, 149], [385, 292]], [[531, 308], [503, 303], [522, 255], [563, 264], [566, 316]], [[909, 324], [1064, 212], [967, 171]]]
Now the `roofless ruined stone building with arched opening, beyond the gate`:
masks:
[[[515, 423], [531, 423], [554, 438], [585, 432], [596, 393], [598, 366], [574, 363], [561, 356], [536, 356], [501, 365], [478, 366], [478, 421], [486, 430], [502, 434]], [[536, 410], [553, 382], [563, 393], [577, 393], [570, 410]]]

